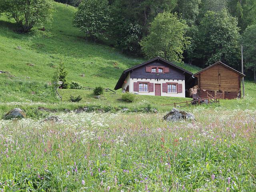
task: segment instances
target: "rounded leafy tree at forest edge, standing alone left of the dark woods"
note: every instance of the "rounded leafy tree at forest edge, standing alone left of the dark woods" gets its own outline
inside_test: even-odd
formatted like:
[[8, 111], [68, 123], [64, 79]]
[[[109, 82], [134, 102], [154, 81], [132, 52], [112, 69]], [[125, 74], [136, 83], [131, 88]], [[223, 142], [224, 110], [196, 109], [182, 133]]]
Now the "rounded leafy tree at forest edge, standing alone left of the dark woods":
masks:
[[111, 21], [107, 0], [83, 0], [78, 6], [74, 25], [92, 40], [106, 38]]

